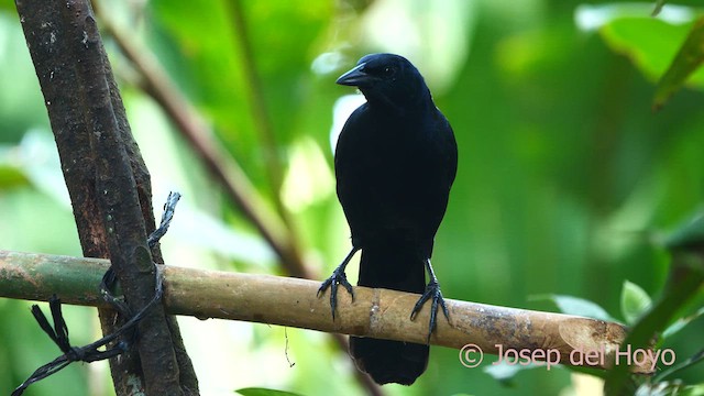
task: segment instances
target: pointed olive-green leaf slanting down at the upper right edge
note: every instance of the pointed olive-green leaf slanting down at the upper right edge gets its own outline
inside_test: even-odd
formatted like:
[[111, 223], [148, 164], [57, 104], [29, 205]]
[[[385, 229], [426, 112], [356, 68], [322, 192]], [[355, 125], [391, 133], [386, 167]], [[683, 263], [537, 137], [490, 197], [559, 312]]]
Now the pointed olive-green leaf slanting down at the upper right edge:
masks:
[[658, 89], [652, 102], [653, 109], [661, 108], [670, 96], [700, 68], [702, 62], [704, 62], [704, 16], [694, 23], [674, 61], [658, 81]]

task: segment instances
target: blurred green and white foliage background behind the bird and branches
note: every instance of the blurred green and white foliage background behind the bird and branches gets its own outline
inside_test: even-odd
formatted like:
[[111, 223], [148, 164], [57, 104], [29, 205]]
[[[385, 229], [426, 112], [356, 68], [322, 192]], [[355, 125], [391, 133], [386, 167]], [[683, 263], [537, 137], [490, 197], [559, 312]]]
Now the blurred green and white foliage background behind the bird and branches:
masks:
[[[152, 174], [156, 216], [169, 190], [184, 196], [162, 242], [167, 264], [286, 275], [143, 89], [144, 76], [121, 40], [139, 48], [138, 58], [155, 62], [195, 107], [263, 205], [285, 219], [318, 279], [350, 248], [332, 144], [363, 100], [334, 80], [372, 52], [408, 57], [455, 131], [459, 172], [433, 255], [447, 298], [558, 311], [547, 296], [570, 295], [623, 320], [624, 282], [657, 296], [669, 266], [663, 235], [701, 209], [704, 75], [651, 110], [656, 81], [704, 11], [700, 1], [669, 3], [658, 18], [650, 16], [654, 2], [572, 0], [101, 0], [95, 7]], [[81, 255], [41, 90], [8, 0], [0, 1], [0, 249]], [[348, 274], [356, 279], [356, 266]], [[59, 353], [30, 305], [0, 299], [3, 394]], [[95, 309], [65, 312], [74, 343], [99, 337]], [[324, 333], [179, 321], [204, 395], [252, 386], [365, 392]], [[703, 334], [704, 322], [694, 321], [666, 346], [685, 359], [704, 344]], [[598, 394], [598, 384], [563, 367], [506, 381], [483, 367], [466, 369], [457, 350], [432, 348], [414, 386], [383, 391]], [[680, 377], [700, 381], [704, 370]], [[74, 364], [25, 394], [113, 391], [107, 363], [99, 362]]]

